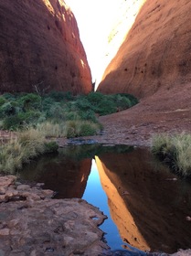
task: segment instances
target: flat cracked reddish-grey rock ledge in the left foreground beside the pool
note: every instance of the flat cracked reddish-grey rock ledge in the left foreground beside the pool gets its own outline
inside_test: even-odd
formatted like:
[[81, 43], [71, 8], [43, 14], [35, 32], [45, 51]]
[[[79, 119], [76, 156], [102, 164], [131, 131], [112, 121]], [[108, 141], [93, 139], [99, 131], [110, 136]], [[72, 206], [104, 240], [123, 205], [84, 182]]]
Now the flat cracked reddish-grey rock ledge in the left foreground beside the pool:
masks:
[[53, 191], [0, 176], [0, 255], [101, 255], [98, 228], [106, 218], [82, 199], [52, 199]]

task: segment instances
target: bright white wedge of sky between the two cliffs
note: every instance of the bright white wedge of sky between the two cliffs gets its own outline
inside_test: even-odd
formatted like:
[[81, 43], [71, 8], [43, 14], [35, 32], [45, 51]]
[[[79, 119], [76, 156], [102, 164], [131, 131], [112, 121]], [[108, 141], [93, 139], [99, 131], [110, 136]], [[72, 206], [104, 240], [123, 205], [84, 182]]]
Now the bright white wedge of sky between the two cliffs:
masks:
[[77, 19], [80, 40], [89, 61], [92, 80], [101, 72], [101, 57], [115, 19], [117, 0], [65, 0]]

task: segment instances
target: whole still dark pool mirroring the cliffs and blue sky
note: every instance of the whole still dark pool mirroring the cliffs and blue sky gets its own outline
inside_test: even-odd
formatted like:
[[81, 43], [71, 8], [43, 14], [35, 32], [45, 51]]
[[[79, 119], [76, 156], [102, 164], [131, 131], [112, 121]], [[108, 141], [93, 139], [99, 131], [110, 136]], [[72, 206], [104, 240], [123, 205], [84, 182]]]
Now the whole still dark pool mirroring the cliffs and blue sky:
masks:
[[79, 197], [103, 211], [111, 250], [191, 248], [191, 183], [170, 173], [147, 149], [80, 145], [42, 157], [19, 174], [58, 198]]

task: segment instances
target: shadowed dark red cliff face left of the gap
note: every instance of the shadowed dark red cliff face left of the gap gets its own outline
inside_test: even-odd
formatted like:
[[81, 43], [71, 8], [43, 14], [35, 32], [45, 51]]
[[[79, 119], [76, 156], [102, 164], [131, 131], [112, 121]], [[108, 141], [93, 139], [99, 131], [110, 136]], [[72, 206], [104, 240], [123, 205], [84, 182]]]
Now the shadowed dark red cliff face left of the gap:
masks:
[[91, 91], [77, 22], [64, 1], [0, 1], [0, 31], [0, 92]]

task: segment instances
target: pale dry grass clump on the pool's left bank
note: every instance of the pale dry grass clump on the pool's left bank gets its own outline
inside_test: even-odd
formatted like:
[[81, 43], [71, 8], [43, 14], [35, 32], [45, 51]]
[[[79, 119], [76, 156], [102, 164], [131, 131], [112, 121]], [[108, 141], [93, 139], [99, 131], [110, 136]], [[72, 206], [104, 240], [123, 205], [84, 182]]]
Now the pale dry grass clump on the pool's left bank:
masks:
[[58, 144], [47, 142], [43, 133], [29, 128], [18, 133], [8, 143], [0, 145], [0, 170], [13, 174], [31, 159], [57, 150]]

